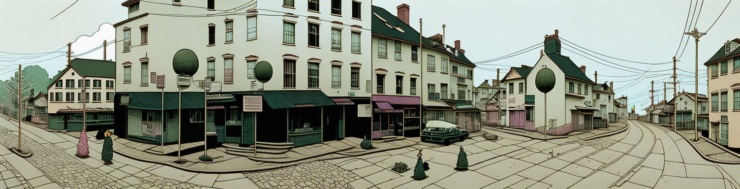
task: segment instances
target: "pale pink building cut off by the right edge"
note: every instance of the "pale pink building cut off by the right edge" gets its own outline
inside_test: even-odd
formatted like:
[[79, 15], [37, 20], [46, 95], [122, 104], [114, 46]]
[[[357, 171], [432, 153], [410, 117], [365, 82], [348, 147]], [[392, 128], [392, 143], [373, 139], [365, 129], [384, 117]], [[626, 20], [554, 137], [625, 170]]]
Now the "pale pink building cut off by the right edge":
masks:
[[740, 39], [727, 41], [704, 65], [709, 76], [710, 139], [740, 147]]

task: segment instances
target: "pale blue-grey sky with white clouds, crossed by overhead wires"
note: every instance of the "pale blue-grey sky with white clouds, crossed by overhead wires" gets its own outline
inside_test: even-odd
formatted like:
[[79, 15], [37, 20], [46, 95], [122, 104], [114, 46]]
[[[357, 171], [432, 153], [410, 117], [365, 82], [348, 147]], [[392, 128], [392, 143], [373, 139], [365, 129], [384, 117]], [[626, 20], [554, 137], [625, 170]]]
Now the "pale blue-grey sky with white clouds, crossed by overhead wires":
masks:
[[[0, 30], [0, 79], [10, 77], [13, 74], [10, 72], [11, 65], [15, 64], [38, 64], [53, 76], [66, 64], [64, 53], [55, 51], [66, 51], [65, 46], [68, 42], [73, 43], [73, 52], [77, 56], [100, 46], [104, 39], [113, 41], [115, 33], [111, 24], [127, 18], [127, 9], [121, 6], [121, 2], [123, 1], [0, 0], [0, 18], [3, 18], [0, 19], [0, 24], [17, 26], [14, 30]], [[647, 90], [650, 88], [651, 80], [656, 81], [655, 90], [659, 91], [656, 93], [656, 101], [663, 99], [662, 82], [669, 80], [668, 75], [661, 74], [670, 74], [670, 71], [661, 70], [671, 69], [672, 64], [650, 65], [633, 62], [663, 63], [670, 62], [673, 56], [680, 56], [677, 67], [692, 73], [679, 70], [679, 80], [682, 82], [679, 90], [694, 91], [695, 44], [693, 38], [686, 43], [688, 36], [682, 35], [684, 28], [693, 29], [696, 25], [699, 31], [706, 31], [727, 5], [727, 1], [724, 0], [706, 2], [698, 0], [699, 4], [696, 2], [694, 0], [374, 0], [372, 4], [383, 7], [391, 13], [396, 13], [397, 5], [408, 4], [411, 8], [411, 26], [418, 30], [418, 20], [422, 18], [424, 36], [442, 33], [442, 24], [446, 24], [445, 43], [452, 44], [455, 40], [460, 40], [462, 49], [465, 49], [465, 56], [472, 62], [497, 59], [542, 44], [546, 34], [559, 30], [559, 37], [562, 40], [580, 46], [568, 47], [565, 44], [568, 42], [563, 41], [562, 54], [570, 56], [578, 66], [585, 65], [586, 75], [592, 80], [593, 71], [598, 71], [599, 83], [614, 82], [616, 96], [628, 96], [630, 106], [635, 105], [636, 111], [642, 114], [644, 113], [642, 108], [650, 105], [650, 94]], [[56, 16], [70, 4], [73, 6]], [[740, 2], [730, 3], [727, 11], [719, 17], [720, 19], [699, 43], [699, 76], [704, 77], [699, 79], [699, 93], [706, 93], [707, 90], [707, 86], [702, 85], [707, 83], [705, 77], [707, 68], [703, 63], [713, 56], [724, 42], [740, 38], [740, 24], [734, 24], [740, 21], [740, 11], [732, 10], [740, 10]], [[686, 26], [687, 15], [688, 19], [693, 17], [689, 27]], [[56, 17], [52, 19], [54, 16]], [[474, 83], [480, 84], [484, 79], [496, 79], [496, 73], [489, 71], [491, 69], [508, 69], [521, 64], [533, 66], [539, 59], [538, 53], [541, 49], [542, 47], [539, 47], [506, 59], [479, 64], [479, 68], [475, 69]], [[33, 59], [16, 60], [21, 56]], [[112, 50], [109, 50], [108, 59], [115, 60], [114, 56]], [[79, 57], [101, 59], [102, 49]], [[642, 74], [648, 69], [650, 73]], [[501, 76], [504, 76], [506, 71], [508, 70], [502, 70]], [[667, 93], [670, 99], [672, 92], [668, 90]]]

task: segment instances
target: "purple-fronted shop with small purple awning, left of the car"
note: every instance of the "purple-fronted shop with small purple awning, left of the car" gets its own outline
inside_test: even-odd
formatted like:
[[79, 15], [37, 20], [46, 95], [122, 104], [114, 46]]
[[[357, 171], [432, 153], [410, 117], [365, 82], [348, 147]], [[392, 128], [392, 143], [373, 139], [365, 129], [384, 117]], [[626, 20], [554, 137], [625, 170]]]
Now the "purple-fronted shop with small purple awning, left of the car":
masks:
[[418, 96], [373, 95], [372, 137], [419, 136]]

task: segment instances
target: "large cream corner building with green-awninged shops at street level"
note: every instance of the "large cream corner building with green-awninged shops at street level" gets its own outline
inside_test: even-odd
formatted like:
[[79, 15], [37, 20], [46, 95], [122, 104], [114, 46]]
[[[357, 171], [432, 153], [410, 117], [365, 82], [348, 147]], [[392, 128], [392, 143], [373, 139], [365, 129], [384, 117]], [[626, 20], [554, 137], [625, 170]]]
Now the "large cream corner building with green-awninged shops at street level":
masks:
[[116, 134], [154, 144], [204, 134], [238, 145], [369, 138], [371, 113], [358, 109], [371, 101], [371, 3], [322, 2], [125, 1], [128, 19], [114, 24], [123, 41]]

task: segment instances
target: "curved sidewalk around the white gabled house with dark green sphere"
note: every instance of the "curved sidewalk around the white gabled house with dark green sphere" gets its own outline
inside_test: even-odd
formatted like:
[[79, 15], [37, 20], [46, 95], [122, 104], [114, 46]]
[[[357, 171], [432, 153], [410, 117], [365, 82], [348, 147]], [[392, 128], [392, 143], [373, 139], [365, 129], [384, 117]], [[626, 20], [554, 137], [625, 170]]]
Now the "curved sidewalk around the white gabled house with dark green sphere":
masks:
[[518, 136], [525, 136], [531, 139], [550, 140], [550, 139], [565, 139], [571, 136], [577, 136], [583, 140], [598, 139], [604, 136], [610, 136], [616, 133], [622, 133], [627, 130], [627, 124], [623, 122], [609, 123], [608, 128], [596, 128], [593, 130], [579, 130], [568, 133], [562, 136], [548, 135], [545, 139], [545, 134], [534, 131], [515, 129], [511, 127], [485, 127], [491, 130], [496, 130], [502, 133], [510, 133]]

